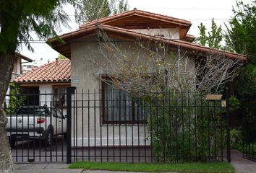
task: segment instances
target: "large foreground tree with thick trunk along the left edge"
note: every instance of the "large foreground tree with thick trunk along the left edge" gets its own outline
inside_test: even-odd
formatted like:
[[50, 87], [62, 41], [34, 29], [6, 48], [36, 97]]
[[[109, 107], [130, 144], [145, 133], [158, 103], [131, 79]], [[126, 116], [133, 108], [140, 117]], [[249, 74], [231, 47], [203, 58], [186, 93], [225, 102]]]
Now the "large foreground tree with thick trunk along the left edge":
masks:
[[14, 172], [5, 130], [7, 115], [2, 107], [14, 68], [14, 53], [21, 43], [33, 51], [32, 32], [46, 39], [56, 37], [55, 30], [60, 30], [61, 25], [68, 26], [69, 18], [62, 8], [66, 3], [75, 5], [71, 0], [0, 0], [0, 172]]

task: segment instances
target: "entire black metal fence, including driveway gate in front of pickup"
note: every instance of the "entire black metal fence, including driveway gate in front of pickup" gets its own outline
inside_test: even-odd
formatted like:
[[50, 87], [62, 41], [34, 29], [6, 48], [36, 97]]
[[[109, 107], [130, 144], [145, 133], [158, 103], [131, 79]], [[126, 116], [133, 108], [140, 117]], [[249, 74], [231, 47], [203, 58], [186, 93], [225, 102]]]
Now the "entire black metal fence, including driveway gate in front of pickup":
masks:
[[53, 97], [7, 95], [14, 161], [230, 161], [229, 114], [221, 100], [74, 87], [58, 97], [64, 99]]

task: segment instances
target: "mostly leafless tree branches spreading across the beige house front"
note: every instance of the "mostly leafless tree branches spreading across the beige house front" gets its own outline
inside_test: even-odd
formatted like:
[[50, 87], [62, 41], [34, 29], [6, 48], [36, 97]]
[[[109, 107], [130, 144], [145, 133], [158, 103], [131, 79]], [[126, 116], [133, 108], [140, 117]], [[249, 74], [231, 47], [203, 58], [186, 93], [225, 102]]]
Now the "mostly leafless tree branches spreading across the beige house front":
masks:
[[[204, 94], [216, 93], [222, 84], [234, 79], [236, 70], [243, 64], [239, 58], [231, 59], [223, 57], [221, 53], [208, 53], [204, 58], [197, 59], [195, 68], [188, 68], [192, 58], [182, 48], [174, 51], [169, 50], [171, 46], [161, 41], [137, 40], [135, 46], [129, 46], [135, 47], [134, 52], [126, 53], [105, 32], [99, 31], [98, 35], [103, 39], [100, 46], [106, 61], [91, 57], [86, 62], [101, 68], [103, 74], [110, 74], [111, 79], [106, 82], [114, 81], [116, 88], [130, 92], [148, 92], [152, 89], [152, 81], [149, 79], [153, 79], [155, 92], [194, 92], [197, 89]], [[137, 58], [128, 58], [131, 54]], [[148, 74], [153, 75], [153, 78], [145, 78]]]

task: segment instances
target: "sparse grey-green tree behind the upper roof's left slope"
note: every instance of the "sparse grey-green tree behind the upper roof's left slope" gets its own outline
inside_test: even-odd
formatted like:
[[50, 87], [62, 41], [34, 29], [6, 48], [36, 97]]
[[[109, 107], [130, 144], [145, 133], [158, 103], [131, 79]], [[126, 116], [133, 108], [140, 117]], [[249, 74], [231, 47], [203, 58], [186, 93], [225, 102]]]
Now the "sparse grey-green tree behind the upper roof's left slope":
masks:
[[78, 0], [75, 9], [75, 21], [81, 25], [111, 14], [125, 12], [129, 9], [124, 0]]

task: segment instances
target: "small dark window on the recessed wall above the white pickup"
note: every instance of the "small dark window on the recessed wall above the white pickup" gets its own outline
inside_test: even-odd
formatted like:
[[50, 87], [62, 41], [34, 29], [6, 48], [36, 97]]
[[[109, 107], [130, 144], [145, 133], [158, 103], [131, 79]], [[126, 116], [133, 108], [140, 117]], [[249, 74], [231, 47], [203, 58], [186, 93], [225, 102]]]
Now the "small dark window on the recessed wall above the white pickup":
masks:
[[54, 86], [53, 106], [59, 108], [67, 106], [67, 86]]

